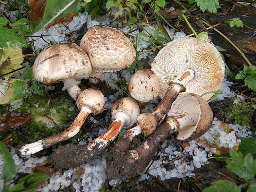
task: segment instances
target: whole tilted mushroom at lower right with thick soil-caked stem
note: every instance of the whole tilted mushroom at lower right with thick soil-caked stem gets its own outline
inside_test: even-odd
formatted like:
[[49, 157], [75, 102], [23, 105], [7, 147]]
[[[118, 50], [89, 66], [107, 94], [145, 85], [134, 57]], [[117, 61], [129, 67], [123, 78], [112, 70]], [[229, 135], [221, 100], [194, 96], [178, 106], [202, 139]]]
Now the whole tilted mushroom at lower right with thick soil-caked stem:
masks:
[[[107, 157], [109, 179], [132, 178], [140, 175], [158, 147], [172, 134], [178, 140], [190, 141], [203, 135], [211, 126], [213, 115], [210, 106], [200, 96], [183, 95], [172, 104], [165, 123], [158, 127], [139, 147], [129, 150], [132, 139], [127, 132], [118, 140]], [[131, 129], [132, 130], [132, 129]], [[136, 132], [136, 130], [132, 130]], [[136, 135], [137, 133], [132, 133]]]

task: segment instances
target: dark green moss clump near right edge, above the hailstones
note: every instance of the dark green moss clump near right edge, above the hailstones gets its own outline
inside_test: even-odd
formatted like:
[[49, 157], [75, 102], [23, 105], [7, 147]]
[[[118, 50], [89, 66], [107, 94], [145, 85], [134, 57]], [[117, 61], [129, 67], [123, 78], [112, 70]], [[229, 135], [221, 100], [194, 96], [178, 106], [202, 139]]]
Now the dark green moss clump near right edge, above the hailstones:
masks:
[[252, 114], [255, 110], [252, 105], [255, 105], [255, 102], [231, 104], [228, 109], [225, 109], [227, 112], [225, 113], [225, 118], [234, 120], [234, 123], [238, 123], [243, 127], [252, 127]]

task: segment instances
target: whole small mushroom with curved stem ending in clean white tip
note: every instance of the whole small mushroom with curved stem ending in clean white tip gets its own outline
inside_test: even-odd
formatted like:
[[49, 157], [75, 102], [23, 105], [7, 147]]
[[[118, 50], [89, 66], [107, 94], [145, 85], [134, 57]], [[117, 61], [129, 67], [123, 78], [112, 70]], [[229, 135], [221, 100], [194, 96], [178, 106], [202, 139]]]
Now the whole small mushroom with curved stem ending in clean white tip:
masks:
[[35, 143], [26, 144], [20, 148], [22, 155], [31, 155], [37, 153], [44, 148], [49, 148], [54, 144], [66, 141], [74, 137], [84, 124], [88, 114], [98, 114], [104, 107], [104, 96], [102, 92], [94, 90], [92, 88], [85, 89], [77, 98], [77, 107], [80, 109], [79, 114], [75, 118], [71, 126], [57, 135], [47, 137], [45, 139], [36, 141]]

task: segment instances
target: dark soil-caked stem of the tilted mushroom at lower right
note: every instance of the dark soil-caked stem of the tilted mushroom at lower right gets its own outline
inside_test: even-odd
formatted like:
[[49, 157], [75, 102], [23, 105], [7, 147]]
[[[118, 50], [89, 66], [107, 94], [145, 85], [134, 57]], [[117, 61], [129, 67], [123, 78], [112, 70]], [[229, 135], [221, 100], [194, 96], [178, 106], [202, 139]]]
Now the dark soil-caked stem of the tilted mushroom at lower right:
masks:
[[178, 130], [179, 123], [175, 118], [170, 118], [158, 127], [143, 144], [129, 151], [131, 137], [122, 137], [107, 157], [108, 179], [115, 179], [118, 176], [132, 178], [139, 175], [145, 170], [159, 145]]

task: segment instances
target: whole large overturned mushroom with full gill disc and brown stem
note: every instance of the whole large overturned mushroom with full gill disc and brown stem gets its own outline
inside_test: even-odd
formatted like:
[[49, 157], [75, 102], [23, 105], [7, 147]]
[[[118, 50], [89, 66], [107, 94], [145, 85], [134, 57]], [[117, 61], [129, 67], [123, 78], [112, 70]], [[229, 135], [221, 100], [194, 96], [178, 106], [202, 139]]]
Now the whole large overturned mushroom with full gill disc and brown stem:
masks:
[[[159, 105], [151, 113], [160, 125], [172, 102], [187, 93], [202, 95], [217, 91], [224, 78], [225, 65], [216, 48], [205, 41], [181, 38], [162, 48], [152, 63], [161, 83]], [[203, 96], [209, 100], [214, 94]], [[144, 114], [140, 114], [141, 117]], [[146, 118], [141, 118], [147, 121]], [[140, 123], [142, 124], [142, 122]], [[155, 127], [156, 128], [156, 127]]]

